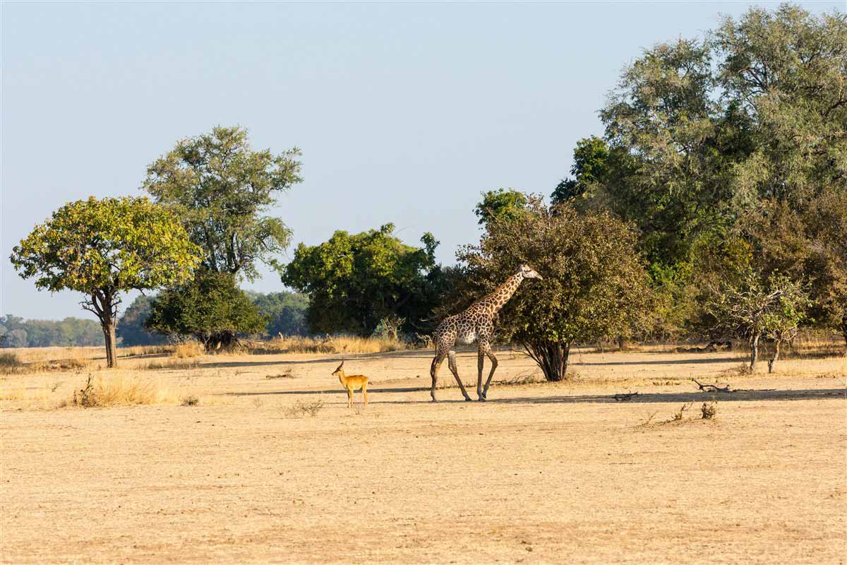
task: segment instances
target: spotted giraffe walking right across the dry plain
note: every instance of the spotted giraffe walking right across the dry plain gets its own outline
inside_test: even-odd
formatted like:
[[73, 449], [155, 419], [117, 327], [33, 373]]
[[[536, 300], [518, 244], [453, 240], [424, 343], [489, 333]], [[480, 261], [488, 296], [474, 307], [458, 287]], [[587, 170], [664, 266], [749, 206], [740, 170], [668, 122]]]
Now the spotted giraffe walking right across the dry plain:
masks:
[[[497, 357], [491, 351], [491, 338], [494, 336], [494, 319], [501, 307], [503, 307], [509, 298], [518, 290], [524, 279], [539, 279], [542, 277], [536, 273], [529, 265], [523, 264], [518, 269], [518, 272], [512, 274], [506, 282], [497, 287], [497, 290], [490, 295], [481, 298], [477, 302], [468, 307], [467, 310], [460, 314], [450, 316], [444, 319], [438, 328], [435, 329], [435, 358], [432, 360], [432, 366], [429, 368], [429, 376], [432, 377], [432, 390], [429, 396], [432, 396], [432, 402], [438, 402], [435, 399], [435, 385], [438, 383], [438, 370], [441, 368], [441, 363], [444, 357], [447, 356], [447, 365], [450, 367], [450, 372], [456, 377], [456, 382], [459, 388], [462, 389], [462, 396], [470, 402], [471, 397], [468, 396], [468, 391], [465, 391], [465, 385], [462, 384], [462, 379], [459, 378], [459, 371], [456, 367], [456, 351], [453, 346], [456, 342], [459, 343], [477, 343], [477, 396], [479, 402], [485, 402], [485, 395], [488, 394], [488, 387], [491, 385], [491, 377], [497, 368]], [[488, 375], [488, 380], [485, 381], [485, 388], [482, 387], [482, 369], [484, 365], [484, 357], [488, 356], [491, 360], [491, 372]]]

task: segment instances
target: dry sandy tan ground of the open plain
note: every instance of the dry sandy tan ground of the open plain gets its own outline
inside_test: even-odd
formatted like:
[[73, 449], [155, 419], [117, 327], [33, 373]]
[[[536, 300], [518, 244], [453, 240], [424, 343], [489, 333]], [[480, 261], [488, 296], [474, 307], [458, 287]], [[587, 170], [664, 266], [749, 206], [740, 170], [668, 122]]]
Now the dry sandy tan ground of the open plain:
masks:
[[[4, 401], [0, 562], [847, 562], [844, 359], [750, 378], [732, 353], [577, 352], [573, 382], [432, 404], [429, 355], [347, 356], [374, 380], [367, 410], [347, 409], [337, 356], [145, 372], [193, 407]], [[499, 357], [495, 380], [533, 373]], [[459, 370], [475, 379], [475, 356]], [[2, 382], [67, 397], [84, 379]]]

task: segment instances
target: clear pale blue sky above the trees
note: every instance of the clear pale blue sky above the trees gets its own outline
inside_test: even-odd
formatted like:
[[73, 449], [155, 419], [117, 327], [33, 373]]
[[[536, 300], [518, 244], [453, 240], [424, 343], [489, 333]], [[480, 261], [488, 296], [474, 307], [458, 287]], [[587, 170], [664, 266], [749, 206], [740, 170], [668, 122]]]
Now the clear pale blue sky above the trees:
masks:
[[480, 191], [549, 194], [643, 47], [748, 5], [3, 2], [0, 313], [86, 316], [21, 280], [12, 246], [64, 202], [141, 194], [147, 163], [218, 124], [302, 148], [276, 210], [295, 243], [394, 222], [453, 263]]

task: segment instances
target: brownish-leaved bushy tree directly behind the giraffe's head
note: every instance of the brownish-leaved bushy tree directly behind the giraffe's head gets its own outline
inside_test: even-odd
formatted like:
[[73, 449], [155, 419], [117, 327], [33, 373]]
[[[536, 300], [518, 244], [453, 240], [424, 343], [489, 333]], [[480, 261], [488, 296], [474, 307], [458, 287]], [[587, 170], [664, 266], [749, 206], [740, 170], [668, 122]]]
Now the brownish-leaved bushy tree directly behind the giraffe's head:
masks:
[[512, 296], [498, 331], [556, 381], [565, 376], [571, 346], [628, 335], [649, 313], [649, 279], [636, 243], [635, 230], [609, 213], [580, 213], [569, 204], [553, 213], [531, 197], [523, 218], [491, 221], [479, 245], [463, 247], [457, 258], [472, 285], [465, 295], [493, 291], [521, 263], [544, 276]]

